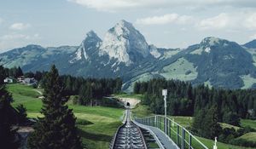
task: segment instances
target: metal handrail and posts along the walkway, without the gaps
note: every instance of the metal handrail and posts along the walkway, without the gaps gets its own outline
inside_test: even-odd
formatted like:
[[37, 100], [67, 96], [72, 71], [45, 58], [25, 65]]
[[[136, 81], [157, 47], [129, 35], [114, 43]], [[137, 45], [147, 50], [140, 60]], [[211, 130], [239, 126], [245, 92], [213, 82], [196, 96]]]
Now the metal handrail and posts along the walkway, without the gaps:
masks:
[[[153, 120], [152, 120], [153, 118]], [[161, 121], [163, 119], [163, 121]], [[167, 129], [164, 131], [164, 133], [172, 138], [172, 133], [175, 133], [177, 136], [177, 146], [181, 146], [181, 149], [186, 148], [186, 145], [189, 146], [189, 149], [194, 149], [195, 147], [192, 146], [192, 140], [195, 140], [201, 147], [204, 149], [208, 149], [207, 146], [205, 146], [200, 140], [198, 140], [194, 135], [192, 135], [189, 130], [185, 129], [183, 126], [181, 126], [179, 123], [176, 123], [174, 120], [172, 120], [169, 117], [164, 117], [161, 115], [154, 115], [154, 116], [149, 116], [149, 117], [143, 117], [143, 118], [135, 118], [135, 121], [137, 123], [142, 123], [145, 125], [153, 125], [154, 127], [157, 128], [165, 128], [165, 124], [167, 124]], [[153, 121], [153, 122], [152, 122]], [[171, 125], [172, 123], [172, 125]], [[162, 127], [163, 124], [163, 127]], [[176, 125], [177, 131], [173, 129], [173, 124]], [[169, 125], [169, 126], [168, 126]], [[162, 129], [161, 129], [162, 130]], [[181, 130], [181, 131], [180, 131]], [[179, 132], [180, 131], [180, 132]], [[189, 140], [186, 140], [186, 134], [189, 135]], [[170, 135], [170, 136], [169, 136]], [[170, 139], [171, 139], [170, 138]], [[179, 143], [180, 142], [180, 143]]]

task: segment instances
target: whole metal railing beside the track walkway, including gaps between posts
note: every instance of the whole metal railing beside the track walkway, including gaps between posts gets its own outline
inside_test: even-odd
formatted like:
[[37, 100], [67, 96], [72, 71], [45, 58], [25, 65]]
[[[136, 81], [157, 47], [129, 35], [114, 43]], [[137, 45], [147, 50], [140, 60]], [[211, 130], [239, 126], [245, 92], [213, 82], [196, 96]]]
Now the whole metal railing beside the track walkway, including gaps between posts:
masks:
[[200, 140], [187, 129], [168, 117], [155, 115], [151, 117], [135, 118], [137, 123], [161, 129], [181, 149], [208, 149]]

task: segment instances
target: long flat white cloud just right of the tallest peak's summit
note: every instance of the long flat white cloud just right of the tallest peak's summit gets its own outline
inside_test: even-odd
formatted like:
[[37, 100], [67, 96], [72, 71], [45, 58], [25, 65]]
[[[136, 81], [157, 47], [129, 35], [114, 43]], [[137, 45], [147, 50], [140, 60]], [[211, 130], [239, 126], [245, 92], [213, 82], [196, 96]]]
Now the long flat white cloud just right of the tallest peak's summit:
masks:
[[165, 25], [169, 23], [184, 24], [191, 19], [192, 17], [188, 15], [164, 14], [161, 16], [152, 16], [152, 17], [137, 19], [136, 23], [139, 25]]

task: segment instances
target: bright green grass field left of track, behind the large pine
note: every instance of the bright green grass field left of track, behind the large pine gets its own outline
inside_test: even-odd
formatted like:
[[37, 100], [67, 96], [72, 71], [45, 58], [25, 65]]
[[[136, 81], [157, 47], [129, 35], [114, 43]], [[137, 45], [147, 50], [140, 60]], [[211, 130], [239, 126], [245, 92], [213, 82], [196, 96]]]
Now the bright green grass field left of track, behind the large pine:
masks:
[[[8, 84], [7, 89], [12, 93], [13, 106], [23, 104], [27, 109], [28, 117], [43, 117], [40, 114], [42, 102], [40, 94], [32, 87], [21, 84]], [[109, 147], [113, 134], [121, 124], [124, 109], [104, 106], [77, 106], [68, 105], [77, 117], [79, 134], [83, 143], [89, 149], [104, 149]], [[90, 124], [84, 124], [90, 123]]]

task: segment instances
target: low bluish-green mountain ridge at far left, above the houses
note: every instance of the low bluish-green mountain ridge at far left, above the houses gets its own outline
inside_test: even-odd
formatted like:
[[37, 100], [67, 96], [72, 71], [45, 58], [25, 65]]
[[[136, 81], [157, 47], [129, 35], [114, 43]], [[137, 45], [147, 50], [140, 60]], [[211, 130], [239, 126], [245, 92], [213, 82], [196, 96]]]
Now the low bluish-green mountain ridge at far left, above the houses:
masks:
[[64, 60], [77, 48], [76, 46], [43, 48], [39, 45], [27, 45], [26, 47], [12, 49], [0, 54], [0, 60], [3, 66], [21, 66], [25, 72], [48, 70], [51, 64]]

